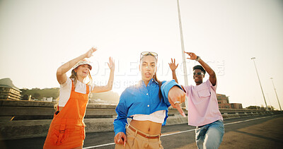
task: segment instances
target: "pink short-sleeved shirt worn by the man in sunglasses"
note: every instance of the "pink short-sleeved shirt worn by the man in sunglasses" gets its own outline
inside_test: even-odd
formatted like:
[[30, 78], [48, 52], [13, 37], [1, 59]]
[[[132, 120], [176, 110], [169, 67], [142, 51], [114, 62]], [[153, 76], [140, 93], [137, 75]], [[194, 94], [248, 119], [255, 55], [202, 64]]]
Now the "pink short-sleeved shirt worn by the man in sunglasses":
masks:
[[185, 86], [188, 97], [188, 124], [191, 126], [203, 126], [219, 119], [223, 120], [218, 108], [216, 97], [216, 85], [212, 85], [209, 79], [200, 85]]

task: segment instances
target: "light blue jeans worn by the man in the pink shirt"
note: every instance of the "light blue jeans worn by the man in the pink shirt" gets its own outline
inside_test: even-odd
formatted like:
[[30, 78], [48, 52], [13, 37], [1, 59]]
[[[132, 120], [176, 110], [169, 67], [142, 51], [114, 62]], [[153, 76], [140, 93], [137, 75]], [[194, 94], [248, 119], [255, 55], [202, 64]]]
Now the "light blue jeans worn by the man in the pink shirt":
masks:
[[221, 119], [195, 129], [197, 148], [219, 148], [224, 135], [224, 124]]

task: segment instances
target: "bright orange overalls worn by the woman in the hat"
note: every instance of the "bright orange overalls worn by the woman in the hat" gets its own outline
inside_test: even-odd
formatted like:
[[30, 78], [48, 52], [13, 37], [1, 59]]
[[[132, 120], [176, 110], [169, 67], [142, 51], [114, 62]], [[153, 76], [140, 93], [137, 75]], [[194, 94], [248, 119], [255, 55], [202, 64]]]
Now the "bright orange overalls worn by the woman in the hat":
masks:
[[71, 81], [70, 98], [63, 109], [54, 114], [43, 148], [76, 148], [83, 145], [86, 137], [83, 117], [86, 114], [88, 93], [88, 85], [86, 94], [76, 93], [74, 82]]

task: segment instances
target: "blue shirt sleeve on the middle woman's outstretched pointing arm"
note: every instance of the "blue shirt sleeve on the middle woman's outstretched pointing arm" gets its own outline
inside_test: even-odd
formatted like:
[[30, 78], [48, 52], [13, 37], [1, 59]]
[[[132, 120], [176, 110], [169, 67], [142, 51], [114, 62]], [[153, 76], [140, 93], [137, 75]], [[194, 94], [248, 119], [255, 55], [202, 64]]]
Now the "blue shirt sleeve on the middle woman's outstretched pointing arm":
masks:
[[183, 90], [182, 87], [178, 85], [178, 83], [175, 82], [175, 80], [163, 81], [161, 85], [161, 93], [163, 95], [164, 102], [166, 103], [168, 107], [171, 105], [170, 102], [168, 101], [168, 93], [169, 93], [169, 90], [173, 88], [173, 86], [178, 86], [181, 90]]

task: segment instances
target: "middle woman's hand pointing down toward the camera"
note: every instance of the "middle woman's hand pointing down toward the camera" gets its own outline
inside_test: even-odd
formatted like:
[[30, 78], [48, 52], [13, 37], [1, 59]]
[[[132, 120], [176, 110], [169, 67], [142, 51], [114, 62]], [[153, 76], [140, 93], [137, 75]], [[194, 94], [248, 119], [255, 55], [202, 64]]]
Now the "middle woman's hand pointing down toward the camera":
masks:
[[180, 106], [180, 103], [185, 102], [185, 93], [183, 90], [181, 90], [178, 86], [173, 86], [173, 88], [169, 90], [168, 100], [172, 107], [178, 109], [178, 112], [185, 117], [185, 112], [183, 112], [183, 109]]

